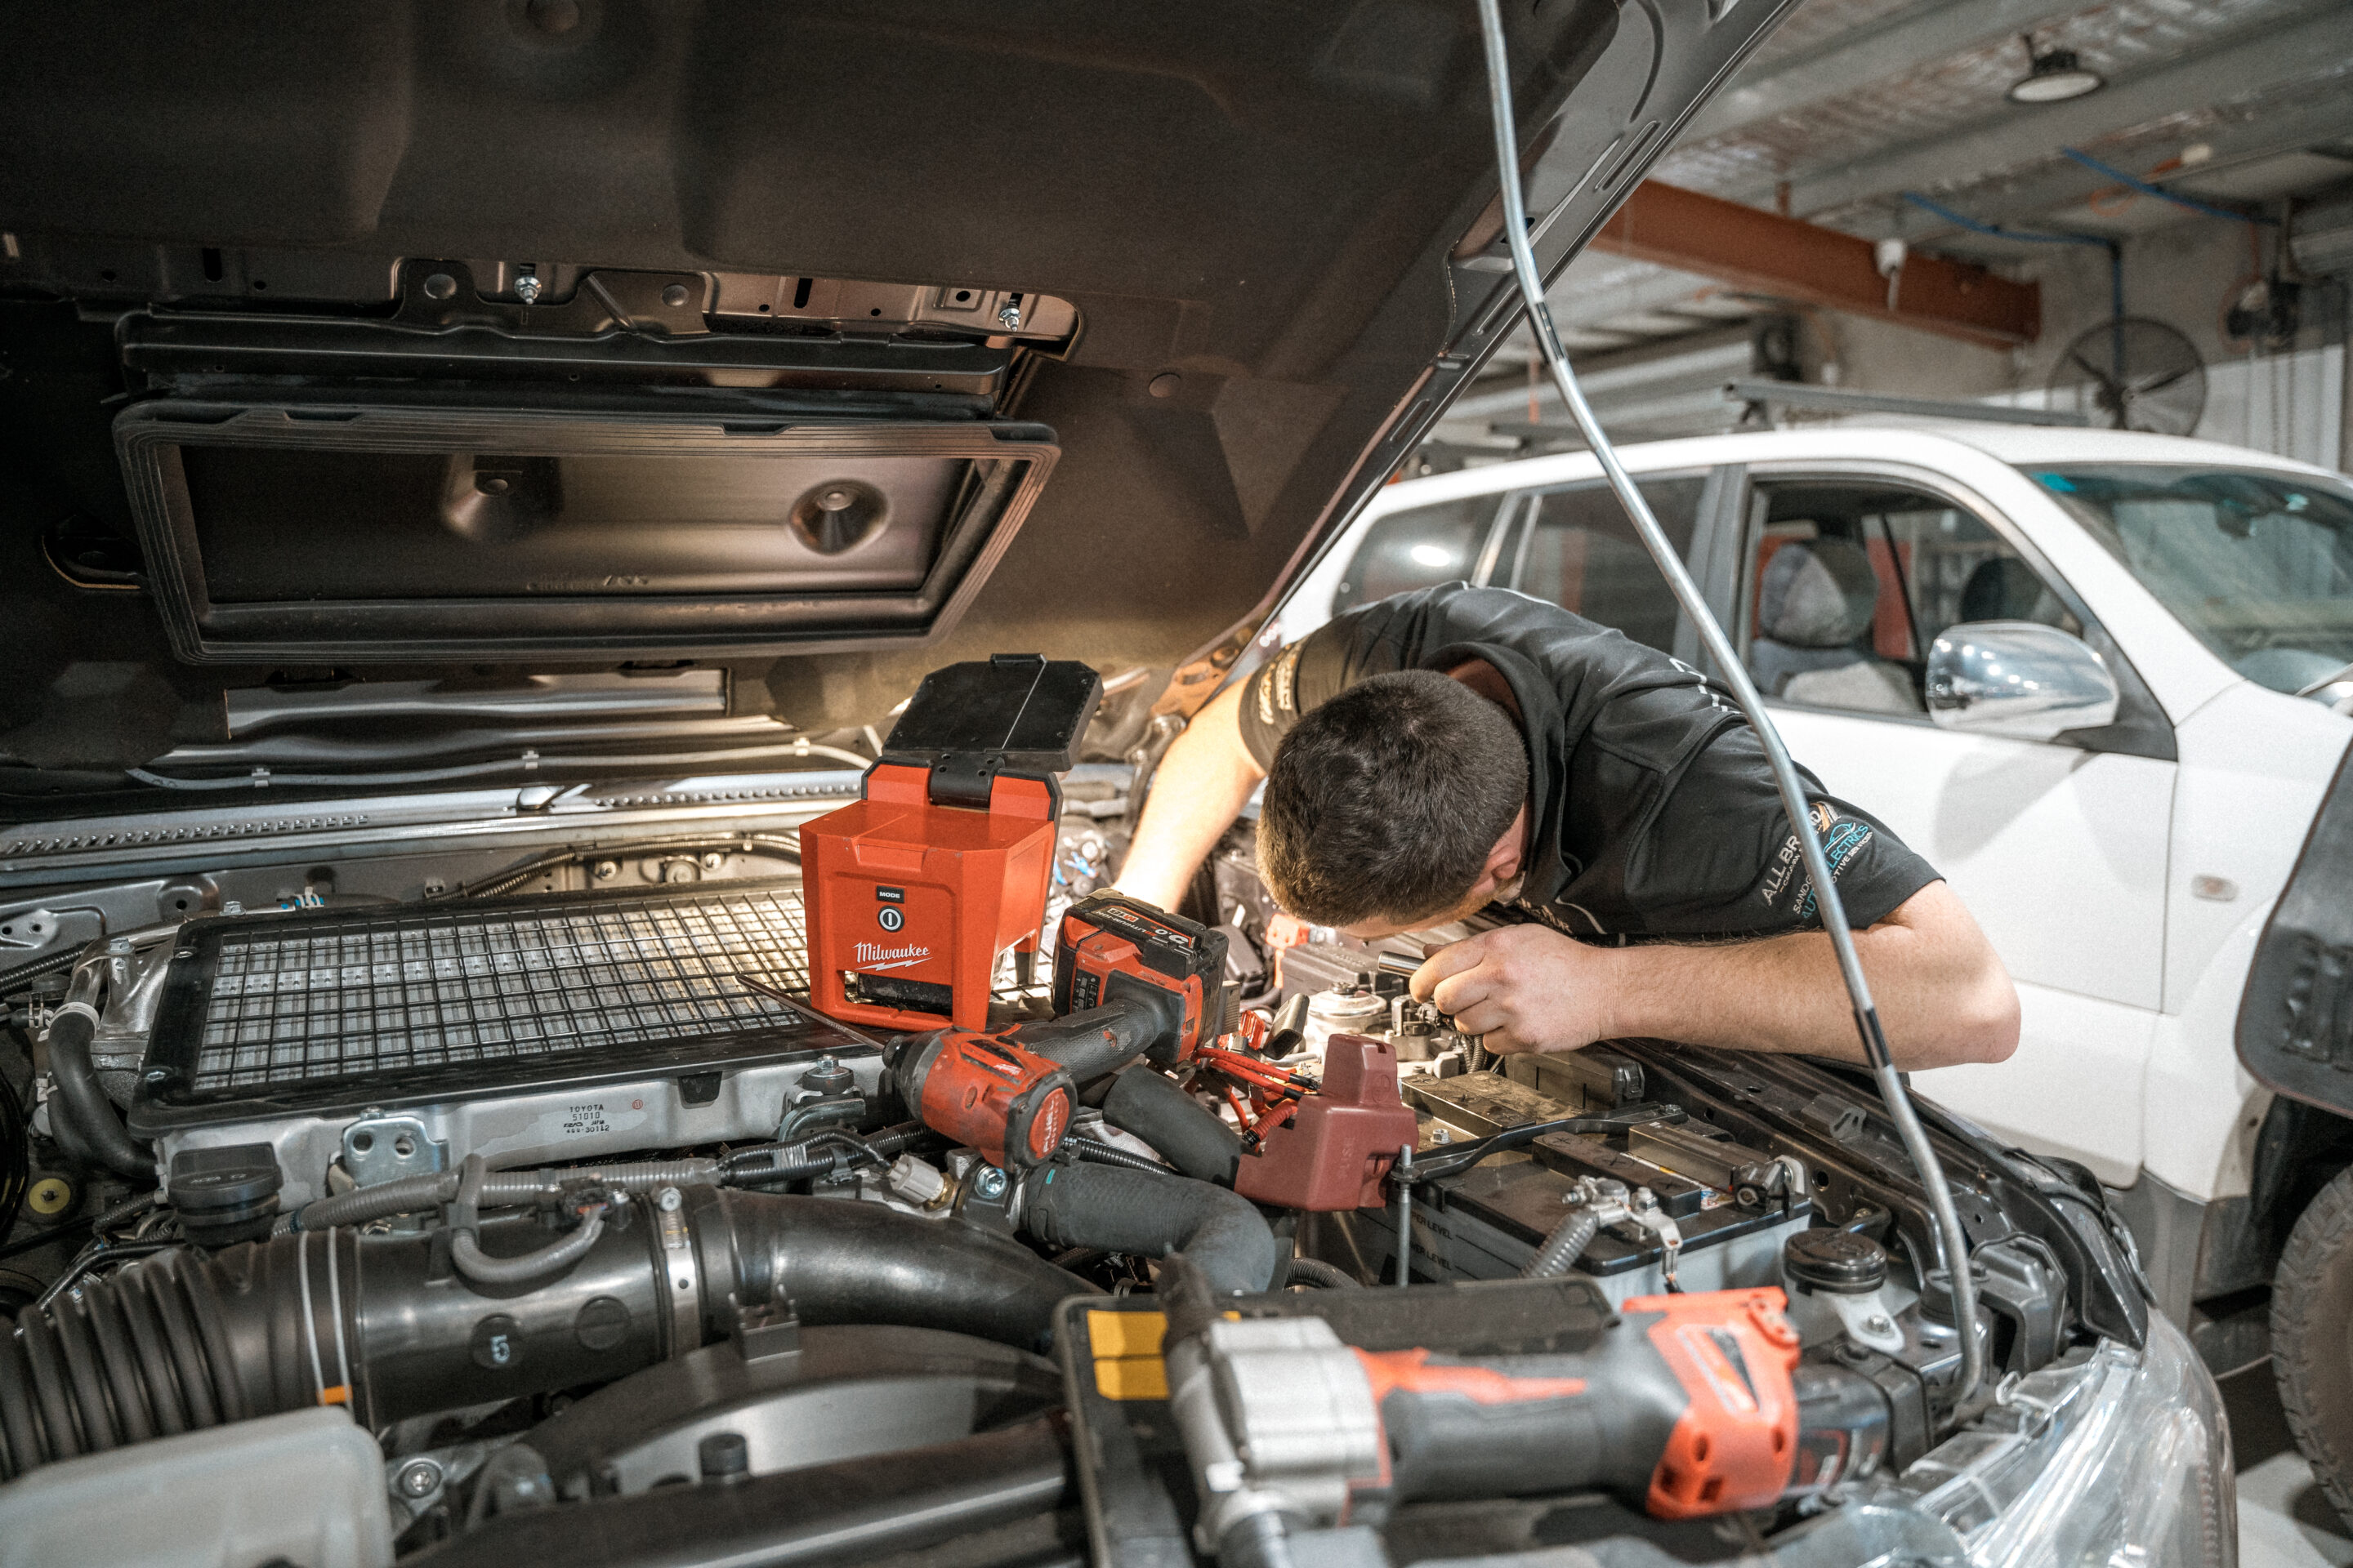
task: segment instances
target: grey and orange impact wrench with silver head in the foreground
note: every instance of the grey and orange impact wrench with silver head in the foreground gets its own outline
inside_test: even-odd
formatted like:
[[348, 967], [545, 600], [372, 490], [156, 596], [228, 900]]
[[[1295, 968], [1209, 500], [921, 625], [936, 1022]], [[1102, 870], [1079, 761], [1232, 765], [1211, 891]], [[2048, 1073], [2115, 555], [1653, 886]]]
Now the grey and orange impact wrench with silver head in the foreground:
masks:
[[[1800, 1361], [1774, 1288], [1617, 1312], [1591, 1281], [1449, 1291], [1445, 1307], [1438, 1286], [1285, 1302], [1212, 1300], [1191, 1265], [1162, 1269], [1195, 1544], [1224, 1568], [1285, 1563], [1292, 1535], [1379, 1526], [1400, 1502], [1605, 1490], [1697, 1519], [1819, 1493], [1887, 1453], [1885, 1394]], [[1454, 1312], [1494, 1319], [1473, 1342], [1537, 1347], [1433, 1349], [1424, 1335]]]

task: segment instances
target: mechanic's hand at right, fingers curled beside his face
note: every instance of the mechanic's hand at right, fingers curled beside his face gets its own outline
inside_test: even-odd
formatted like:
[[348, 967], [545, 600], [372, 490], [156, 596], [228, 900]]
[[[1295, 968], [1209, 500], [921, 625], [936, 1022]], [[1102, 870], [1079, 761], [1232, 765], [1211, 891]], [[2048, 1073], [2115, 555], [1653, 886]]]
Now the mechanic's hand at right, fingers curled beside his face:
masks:
[[1447, 943], [1412, 990], [1454, 1016], [1487, 1051], [1574, 1051], [1617, 1039], [1617, 947], [1586, 947], [1551, 926], [1499, 926]]

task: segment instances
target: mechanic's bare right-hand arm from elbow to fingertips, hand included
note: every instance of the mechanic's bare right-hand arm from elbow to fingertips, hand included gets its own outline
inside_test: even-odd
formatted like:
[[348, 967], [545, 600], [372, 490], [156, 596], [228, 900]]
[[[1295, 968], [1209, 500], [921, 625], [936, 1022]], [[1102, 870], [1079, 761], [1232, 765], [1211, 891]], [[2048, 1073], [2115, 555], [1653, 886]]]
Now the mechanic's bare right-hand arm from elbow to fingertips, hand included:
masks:
[[[1857, 931], [1854, 952], [1897, 1067], [2000, 1063], [2017, 1048], [2009, 971], [1944, 882]], [[1548, 926], [1504, 926], [1431, 954], [1414, 973], [1414, 994], [1504, 1053], [1657, 1037], [1864, 1060], [1824, 931], [1701, 947], [1588, 947]]]

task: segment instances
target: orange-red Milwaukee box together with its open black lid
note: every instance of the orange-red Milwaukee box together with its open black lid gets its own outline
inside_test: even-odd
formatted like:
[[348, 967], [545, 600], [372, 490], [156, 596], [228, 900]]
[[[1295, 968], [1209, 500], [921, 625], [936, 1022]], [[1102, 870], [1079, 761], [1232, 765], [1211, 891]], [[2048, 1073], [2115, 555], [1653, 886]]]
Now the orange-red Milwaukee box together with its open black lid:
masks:
[[1054, 783], [1101, 679], [1035, 654], [934, 670], [861, 799], [800, 830], [809, 999], [894, 1030], [988, 1023], [1005, 952], [1033, 961], [1054, 867]]

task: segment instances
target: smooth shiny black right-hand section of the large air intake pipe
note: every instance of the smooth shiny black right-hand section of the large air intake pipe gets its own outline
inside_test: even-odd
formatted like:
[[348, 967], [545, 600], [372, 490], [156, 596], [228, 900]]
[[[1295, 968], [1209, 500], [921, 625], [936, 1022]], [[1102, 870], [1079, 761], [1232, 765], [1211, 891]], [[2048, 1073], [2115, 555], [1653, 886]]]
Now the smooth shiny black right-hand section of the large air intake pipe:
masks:
[[[1139, 1171], [1106, 1173], [1155, 1180]], [[725, 1234], [736, 1300], [791, 1300], [802, 1324], [951, 1328], [1042, 1349], [1054, 1338], [1054, 1307], [1094, 1293], [1009, 1239], [882, 1204], [699, 1187], [689, 1206], [706, 1239], [706, 1276], [718, 1272], [708, 1244]]]

